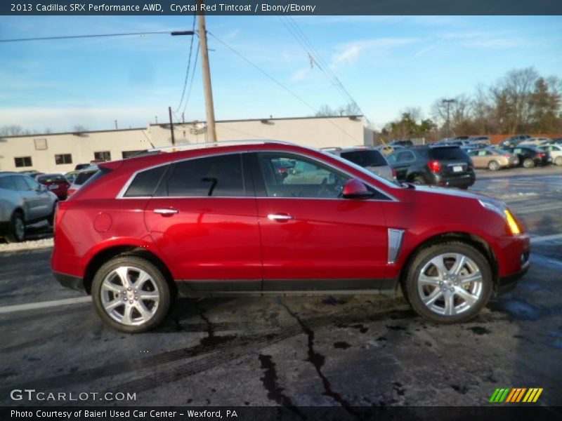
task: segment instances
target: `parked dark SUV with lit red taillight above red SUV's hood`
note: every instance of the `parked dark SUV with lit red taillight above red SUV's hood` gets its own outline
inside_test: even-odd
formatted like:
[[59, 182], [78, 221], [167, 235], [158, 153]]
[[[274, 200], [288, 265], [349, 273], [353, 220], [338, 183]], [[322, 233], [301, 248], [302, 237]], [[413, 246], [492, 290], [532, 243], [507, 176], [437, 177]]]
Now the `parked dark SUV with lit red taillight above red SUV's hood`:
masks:
[[386, 157], [398, 181], [467, 189], [476, 174], [470, 157], [457, 146], [417, 146]]

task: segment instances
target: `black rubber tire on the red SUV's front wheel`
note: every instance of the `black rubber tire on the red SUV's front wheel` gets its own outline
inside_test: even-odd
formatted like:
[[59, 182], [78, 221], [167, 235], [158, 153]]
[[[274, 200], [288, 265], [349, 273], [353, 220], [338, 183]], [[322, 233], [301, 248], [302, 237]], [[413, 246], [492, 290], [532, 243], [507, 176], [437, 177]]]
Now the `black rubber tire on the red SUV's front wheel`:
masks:
[[[430, 270], [436, 270], [436, 266], [432, 267], [431, 260], [433, 258], [439, 258], [443, 255], [452, 255], [456, 253], [458, 255], [464, 255], [464, 257], [469, 259], [469, 262], [466, 262], [465, 265], [461, 267], [461, 272], [465, 272], [462, 276], [467, 275], [474, 275], [476, 272], [471, 272], [476, 267], [481, 274], [481, 281], [478, 283], [469, 283], [469, 288], [476, 288], [473, 291], [478, 290], [478, 295], [473, 295], [472, 297], [477, 296], [478, 298], [473, 302], [471, 305], [468, 304], [468, 301], [462, 299], [460, 295], [456, 293], [457, 290], [462, 288], [462, 278], [460, 279], [459, 286], [457, 283], [459, 278], [456, 279], [447, 279], [443, 283], [443, 286], [433, 286], [433, 285], [426, 285], [419, 281], [419, 277], [421, 275], [422, 269], [424, 267], [428, 267]], [[447, 258], [448, 260], [449, 258]], [[447, 269], [447, 276], [451, 276], [451, 273], [448, 272], [453, 266], [447, 267], [447, 262], [445, 262], [445, 258], [443, 258], [443, 263], [445, 265], [445, 269]], [[453, 262], [454, 263], [454, 262]], [[428, 269], [426, 269], [425, 275], [427, 276], [426, 279], [431, 279], [433, 282], [433, 276], [428, 275]], [[466, 278], [465, 278], [466, 279]], [[447, 283], [450, 283], [447, 285]], [[490, 296], [492, 295], [492, 269], [490, 267], [490, 262], [486, 259], [482, 253], [480, 253], [476, 248], [469, 246], [466, 243], [458, 242], [458, 241], [450, 241], [446, 243], [439, 243], [433, 246], [429, 246], [426, 248], [422, 248], [413, 258], [410, 267], [407, 269], [407, 274], [405, 276], [403, 290], [405, 291], [405, 295], [407, 296], [408, 302], [414, 309], [414, 312], [417, 312], [420, 316], [424, 316], [426, 319], [431, 321], [435, 321], [437, 323], [443, 324], [451, 324], [451, 323], [462, 323], [465, 321], [469, 321], [474, 316], [481, 311], [481, 309], [488, 303], [490, 300]], [[427, 289], [424, 289], [427, 288]], [[433, 288], [433, 289], [431, 289]], [[445, 289], [442, 289], [445, 288]], [[455, 293], [449, 294], [447, 290], [452, 291], [453, 288], [455, 289]], [[466, 288], [462, 288], [466, 290]], [[445, 293], [443, 293], [445, 291]], [[466, 290], [471, 292], [469, 290]], [[424, 294], [426, 299], [431, 299], [431, 297], [439, 297], [435, 299], [433, 303], [429, 303], [428, 305], [424, 304], [422, 301], [421, 295]], [[429, 293], [429, 295], [425, 295]], [[436, 309], [440, 309], [441, 297], [443, 297], [443, 312], [446, 312], [446, 295], [449, 294], [452, 296], [452, 307], [457, 309], [459, 307], [459, 313], [457, 314], [440, 314]], [[455, 298], [457, 297], [457, 298]], [[430, 300], [431, 301], [431, 300]], [[437, 303], [437, 304], [436, 304]], [[458, 304], [457, 304], [458, 303]], [[463, 308], [462, 306], [468, 306]], [[431, 306], [431, 308], [429, 307]]]

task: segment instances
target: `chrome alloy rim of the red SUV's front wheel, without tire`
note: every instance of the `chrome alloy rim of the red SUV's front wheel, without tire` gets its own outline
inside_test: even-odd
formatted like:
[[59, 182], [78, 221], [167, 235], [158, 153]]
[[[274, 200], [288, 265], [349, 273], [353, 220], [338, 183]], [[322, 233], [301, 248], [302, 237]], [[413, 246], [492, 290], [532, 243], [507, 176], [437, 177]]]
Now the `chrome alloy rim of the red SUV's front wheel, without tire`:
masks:
[[432, 312], [455, 316], [476, 305], [483, 293], [478, 265], [461, 253], [444, 253], [429, 260], [419, 272], [417, 290]]

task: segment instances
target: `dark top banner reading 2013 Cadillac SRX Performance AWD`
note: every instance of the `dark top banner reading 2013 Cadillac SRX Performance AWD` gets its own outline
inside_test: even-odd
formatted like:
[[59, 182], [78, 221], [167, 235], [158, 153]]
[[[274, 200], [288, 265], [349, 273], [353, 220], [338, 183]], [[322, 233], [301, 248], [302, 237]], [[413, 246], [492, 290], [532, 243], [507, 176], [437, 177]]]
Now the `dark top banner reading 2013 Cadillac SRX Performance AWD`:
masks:
[[562, 15], [560, 0], [25, 0], [1, 15]]

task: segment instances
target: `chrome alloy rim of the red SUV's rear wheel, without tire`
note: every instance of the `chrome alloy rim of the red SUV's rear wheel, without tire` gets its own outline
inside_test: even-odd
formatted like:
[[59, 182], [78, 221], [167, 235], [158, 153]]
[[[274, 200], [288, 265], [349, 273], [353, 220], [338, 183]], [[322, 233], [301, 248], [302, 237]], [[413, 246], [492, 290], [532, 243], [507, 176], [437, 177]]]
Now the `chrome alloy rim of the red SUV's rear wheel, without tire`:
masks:
[[160, 294], [157, 283], [143, 269], [120, 266], [105, 276], [100, 298], [112, 319], [125, 326], [138, 326], [155, 315]]

